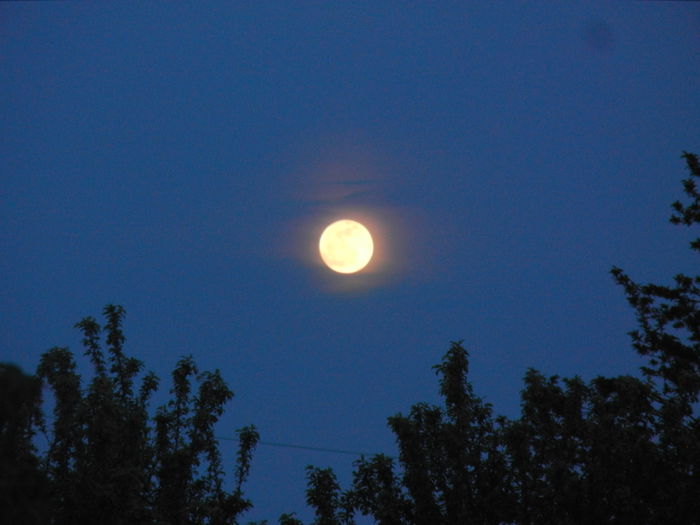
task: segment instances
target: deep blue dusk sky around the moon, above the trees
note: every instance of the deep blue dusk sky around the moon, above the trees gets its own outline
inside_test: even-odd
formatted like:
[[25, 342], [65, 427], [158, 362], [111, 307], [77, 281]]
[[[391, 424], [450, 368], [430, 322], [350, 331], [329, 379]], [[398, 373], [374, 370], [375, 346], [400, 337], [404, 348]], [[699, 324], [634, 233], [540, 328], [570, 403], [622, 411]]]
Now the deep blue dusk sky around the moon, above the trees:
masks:
[[[0, 5], [0, 360], [117, 303], [164, 385], [221, 369], [222, 436], [388, 454], [450, 340], [511, 416], [528, 366], [636, 373], [608, 271], [697, 270], [700, 7], [376, 3]], [[345, 215], [382, 264], [344, 279], [313, 242]], [[261, 445], [247, 518], [352, 460]]]

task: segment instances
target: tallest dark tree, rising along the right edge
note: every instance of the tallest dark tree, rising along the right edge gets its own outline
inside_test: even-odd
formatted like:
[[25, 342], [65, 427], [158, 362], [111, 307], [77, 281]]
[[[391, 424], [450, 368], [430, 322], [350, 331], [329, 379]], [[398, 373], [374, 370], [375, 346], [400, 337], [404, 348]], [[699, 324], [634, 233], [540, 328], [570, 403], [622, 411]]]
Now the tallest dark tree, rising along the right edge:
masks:
[[[683, 189], [687, 205], [673, 203], [671, 223], [700, 223], [700, 160], [684, 152], [689, 177]], [[690, 247], [700, 252], [700, 237]], [[642, 368], [654, 390], [657, 452], [665, 467], [657, 476], [667, 523], [700, 516], [700, 420], [695, 416], [700, 393], [700, 275], [678, 274], [675, 285], [639, 284], [619, 268], [612, 274], [637, 314], [639, 329], [630, 332], [634, 348], [649, 358]], [[681, 520], [681, 521], [678, 521]]]

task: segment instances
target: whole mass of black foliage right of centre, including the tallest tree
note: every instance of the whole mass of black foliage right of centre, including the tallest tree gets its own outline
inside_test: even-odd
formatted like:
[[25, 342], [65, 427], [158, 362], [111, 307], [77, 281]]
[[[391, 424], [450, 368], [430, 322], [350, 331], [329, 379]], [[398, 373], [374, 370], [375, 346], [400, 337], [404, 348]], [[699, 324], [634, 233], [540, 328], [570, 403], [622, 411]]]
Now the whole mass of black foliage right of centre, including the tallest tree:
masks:
[[[683, 158], [690, 202], [673, 204], [671, 222], [696, 226], [700, 162]], [[521, 416], [494, 418], [467, 381], [467, 351], [452, 343], [435, 366], [444, 405], [389, 418], [398, 464], [361, 458], [345, 492], [330, 470], [310, 467], [317, 523], [351, 523], [356, 512], [386, 525], [700, 523], [700, 276], [662, 286], [612, 275], [637, 313], [642, 378], [586, 383], [530, 369]]]

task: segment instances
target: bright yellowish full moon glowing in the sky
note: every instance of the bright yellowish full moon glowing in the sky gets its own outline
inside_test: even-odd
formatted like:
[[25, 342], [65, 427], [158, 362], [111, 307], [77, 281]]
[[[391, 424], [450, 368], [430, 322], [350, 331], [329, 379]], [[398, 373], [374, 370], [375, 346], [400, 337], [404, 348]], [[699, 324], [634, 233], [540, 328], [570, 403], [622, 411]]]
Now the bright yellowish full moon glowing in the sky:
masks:
[[369, 230], [350, 219], [342, 219], [326, 226], [318, 241], [321, 259], [338, 273], [355, 273], [367, 266], [374, 243]]

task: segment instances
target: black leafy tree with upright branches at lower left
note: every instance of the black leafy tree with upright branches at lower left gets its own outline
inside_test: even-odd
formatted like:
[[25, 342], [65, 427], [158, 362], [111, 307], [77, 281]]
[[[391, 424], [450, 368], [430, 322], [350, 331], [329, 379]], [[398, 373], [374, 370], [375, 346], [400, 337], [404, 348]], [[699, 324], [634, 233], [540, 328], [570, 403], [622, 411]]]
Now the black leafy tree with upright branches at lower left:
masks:
[[55, 399], [44, 459], [50, 523], [237, 523], [252, 505], [242, 487], [258, 433], [252, 426], [239, 431], [234, 487], [226, 492], [214, 426], [233, 393], [219, 371], [200, 373], [191, 357], [182, 358], [171, 399], [151, 418], [158, 379], [148, 373], [135, 390], [143, 363], [124, 353], [124, 309], [108, 305], [104, 316], [104, 329], [92, 317], [76, 325], [94, 369], [87, 387], [67, 348], [49, 350], [39, 363], [37, 375]]

